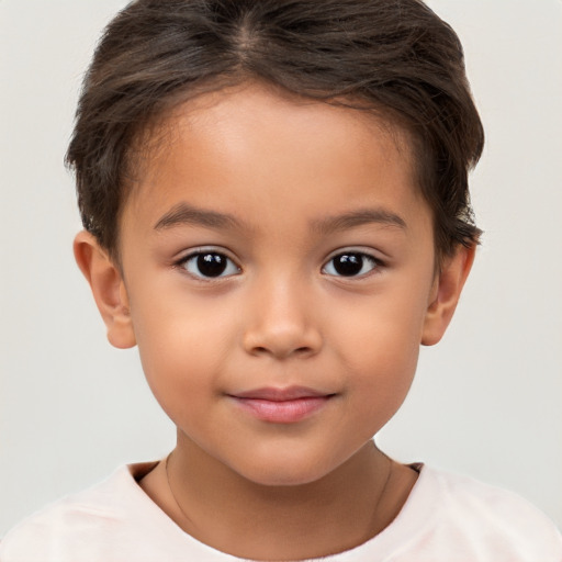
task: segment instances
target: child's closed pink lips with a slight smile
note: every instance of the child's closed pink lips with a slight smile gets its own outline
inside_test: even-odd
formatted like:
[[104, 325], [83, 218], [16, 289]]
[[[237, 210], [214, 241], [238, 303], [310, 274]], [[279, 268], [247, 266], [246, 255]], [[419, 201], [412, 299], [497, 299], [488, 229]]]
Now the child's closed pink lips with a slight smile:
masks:
[[232, 395], [243, 409], [274, 424], [300, 422], [324, 407], [331, 396], [304, 386], [265, 387]]

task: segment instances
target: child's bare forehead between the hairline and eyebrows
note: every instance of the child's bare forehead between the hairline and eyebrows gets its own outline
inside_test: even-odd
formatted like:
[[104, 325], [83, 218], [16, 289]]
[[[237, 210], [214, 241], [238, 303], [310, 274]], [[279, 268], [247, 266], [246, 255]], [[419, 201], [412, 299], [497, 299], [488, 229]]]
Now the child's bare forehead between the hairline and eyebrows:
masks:
[[124, 213], [136, 217], [181, 198], [247, 214], [266, 199], [271, 218], [293, 203], [361, 205], [369, 178], [382, 199], [419, 202], [408, 136], [389, 119], [261, 83], [178, 105], [142, 138], [136, 160]]

